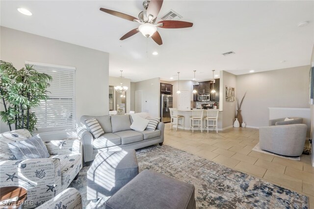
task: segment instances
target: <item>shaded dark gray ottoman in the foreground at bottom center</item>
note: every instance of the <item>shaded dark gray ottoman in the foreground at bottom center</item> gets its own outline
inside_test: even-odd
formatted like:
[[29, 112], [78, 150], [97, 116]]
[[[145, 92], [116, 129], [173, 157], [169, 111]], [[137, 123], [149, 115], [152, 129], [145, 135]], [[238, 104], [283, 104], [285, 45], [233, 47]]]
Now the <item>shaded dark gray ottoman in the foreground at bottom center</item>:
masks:
[[144, 170], [105, 203], [106, 209], [195, 209], [194, 185]]

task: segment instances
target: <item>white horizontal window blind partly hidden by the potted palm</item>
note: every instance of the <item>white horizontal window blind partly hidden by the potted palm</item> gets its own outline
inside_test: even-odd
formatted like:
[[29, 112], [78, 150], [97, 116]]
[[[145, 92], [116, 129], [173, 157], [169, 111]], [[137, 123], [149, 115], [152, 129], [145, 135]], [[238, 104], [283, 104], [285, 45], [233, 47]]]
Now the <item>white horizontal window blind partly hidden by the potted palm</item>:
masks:
[[32, 65], [38, 72], [52, 76], [51, 86], [47, 89], [49, 99], [31, 109], [38, 119], [37, 132], [75, 129], [75, 68]]

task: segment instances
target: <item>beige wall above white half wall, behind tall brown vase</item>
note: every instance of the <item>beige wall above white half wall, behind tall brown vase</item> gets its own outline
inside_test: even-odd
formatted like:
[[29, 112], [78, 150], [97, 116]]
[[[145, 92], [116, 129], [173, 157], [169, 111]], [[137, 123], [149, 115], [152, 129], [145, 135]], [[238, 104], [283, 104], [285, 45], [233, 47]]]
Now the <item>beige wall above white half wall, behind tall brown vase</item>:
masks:
[[309, 108], [310, 66], [265, 71], [236, 77], [236, 95], [247, 91], [242, 117], [247, 126], [268, 126], [268, 107]]

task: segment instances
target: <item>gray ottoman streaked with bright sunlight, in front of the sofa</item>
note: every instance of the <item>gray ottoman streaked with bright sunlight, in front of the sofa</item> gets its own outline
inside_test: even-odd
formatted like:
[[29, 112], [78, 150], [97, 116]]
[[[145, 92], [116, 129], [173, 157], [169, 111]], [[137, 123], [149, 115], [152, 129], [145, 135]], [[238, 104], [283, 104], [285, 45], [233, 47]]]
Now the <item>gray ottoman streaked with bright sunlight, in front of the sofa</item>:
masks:
[[87, 171], [87, 200], [110, 197], [137, 174], [134, 150], [98, 154]]

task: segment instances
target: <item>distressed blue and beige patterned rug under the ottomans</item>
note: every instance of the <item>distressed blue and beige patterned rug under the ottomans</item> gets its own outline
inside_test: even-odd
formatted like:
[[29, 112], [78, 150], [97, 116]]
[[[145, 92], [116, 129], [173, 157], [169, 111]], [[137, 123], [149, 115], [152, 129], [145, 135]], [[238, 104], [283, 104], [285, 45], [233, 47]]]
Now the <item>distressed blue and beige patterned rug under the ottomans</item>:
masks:
[[[307, 196], [167, 145], [137, 150], [136, 157], [140, 172], [152, 169], [192, 183], [198, 209], [308, 209]], [[97, 203], [86, 200], [87, 170], [84, 167], [70, 187], [79, 190], [84, 208], [105, 208], [105, 200]]]

